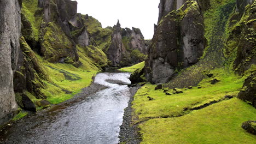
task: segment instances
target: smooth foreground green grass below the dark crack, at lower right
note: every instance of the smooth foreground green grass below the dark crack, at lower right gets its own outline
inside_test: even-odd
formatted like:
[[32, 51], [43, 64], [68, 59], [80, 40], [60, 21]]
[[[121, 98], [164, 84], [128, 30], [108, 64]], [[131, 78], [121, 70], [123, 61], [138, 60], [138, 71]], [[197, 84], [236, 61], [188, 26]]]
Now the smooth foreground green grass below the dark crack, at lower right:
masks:
[[157, 118], [139, 126], [141, 143], [255, 143], [256, 136], [241, 128], [256, 118], [256, 110], [237, 98], [175, 118]]

